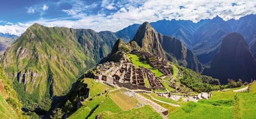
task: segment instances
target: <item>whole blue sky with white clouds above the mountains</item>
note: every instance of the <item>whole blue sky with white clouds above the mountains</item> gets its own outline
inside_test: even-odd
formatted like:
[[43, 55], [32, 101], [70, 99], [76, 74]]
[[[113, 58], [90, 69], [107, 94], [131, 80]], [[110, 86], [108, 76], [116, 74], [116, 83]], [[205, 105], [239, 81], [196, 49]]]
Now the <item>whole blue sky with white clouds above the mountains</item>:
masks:
[[256, 14], [256, 0], [0, 0], [0, 33], [20, 36], [33, 23], [116, 32], [144, 21], [249, 14]]

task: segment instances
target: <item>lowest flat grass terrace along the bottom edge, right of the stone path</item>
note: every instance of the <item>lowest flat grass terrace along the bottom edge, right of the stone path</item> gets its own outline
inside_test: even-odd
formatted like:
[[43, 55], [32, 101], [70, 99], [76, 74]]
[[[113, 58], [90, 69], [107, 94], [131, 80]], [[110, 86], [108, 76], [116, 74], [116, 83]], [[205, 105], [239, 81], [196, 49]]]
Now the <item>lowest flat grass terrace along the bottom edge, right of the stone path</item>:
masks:
[[234, 110], [227, 106], [213, 106], [189, 101], [171, 112], [169, 119], [233, 119]]

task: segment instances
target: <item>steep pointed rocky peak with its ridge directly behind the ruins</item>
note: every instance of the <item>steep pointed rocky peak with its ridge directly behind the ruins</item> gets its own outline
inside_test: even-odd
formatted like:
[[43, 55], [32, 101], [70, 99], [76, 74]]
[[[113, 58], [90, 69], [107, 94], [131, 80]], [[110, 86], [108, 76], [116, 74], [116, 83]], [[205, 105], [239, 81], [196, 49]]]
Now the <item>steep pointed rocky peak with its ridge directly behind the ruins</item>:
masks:
[[120, 50], [141, 50], [150, 52], [159, 57], [177, 62], [194, 71], [200, 72], [202, 70], [202, 66], [198, 59], [191, 50], [185, 47], [184, 43], [173, 37], [157, 33], [148, 22], [144, 22], [139, 27], [133, 40], [129, 43], [125, 44], [124, 41], [117, 40], [112, 49], [112, 53], [106, 59], [111, 59], [113, 55]]

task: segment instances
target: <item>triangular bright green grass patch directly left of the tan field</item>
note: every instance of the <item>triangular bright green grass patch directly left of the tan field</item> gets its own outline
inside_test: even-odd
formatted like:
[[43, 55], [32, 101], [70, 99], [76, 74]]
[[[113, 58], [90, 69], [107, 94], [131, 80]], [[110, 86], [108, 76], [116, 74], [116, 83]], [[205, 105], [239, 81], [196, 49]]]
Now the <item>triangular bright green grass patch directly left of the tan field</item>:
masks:
[[92, 113], [89, 119], [95, 119], [98, 114], [105, 111], [120, 112], [122, 109], [118, 107], [109, 96], [107, 96], [104, 102], [100, 103], [99, 107]]

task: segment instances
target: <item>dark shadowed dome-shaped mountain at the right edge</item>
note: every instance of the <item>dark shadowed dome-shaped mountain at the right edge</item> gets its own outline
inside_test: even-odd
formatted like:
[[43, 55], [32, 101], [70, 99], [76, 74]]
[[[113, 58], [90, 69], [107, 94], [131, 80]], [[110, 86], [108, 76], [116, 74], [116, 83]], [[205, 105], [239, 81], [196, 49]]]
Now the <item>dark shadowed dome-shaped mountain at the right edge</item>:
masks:
[[211, 67], [204, 69], [203, 74], [220, 79], [222, 83], [227, 83], [228, 79], [242, 79], [248, 82], [256, 79], [256, 60], [242, 35], [226, 35], [219, 53], [212, 60]]

